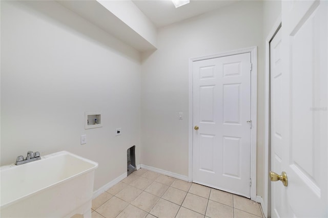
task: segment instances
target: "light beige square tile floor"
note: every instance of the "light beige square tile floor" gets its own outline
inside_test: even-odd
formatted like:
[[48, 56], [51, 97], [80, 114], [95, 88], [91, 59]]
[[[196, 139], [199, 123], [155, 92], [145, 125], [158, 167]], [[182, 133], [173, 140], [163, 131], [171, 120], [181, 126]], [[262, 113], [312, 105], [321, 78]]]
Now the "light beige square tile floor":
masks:
[[262, 217], [260, 205], [235, 194], [146, 169], [92, 201], [92, 217]]

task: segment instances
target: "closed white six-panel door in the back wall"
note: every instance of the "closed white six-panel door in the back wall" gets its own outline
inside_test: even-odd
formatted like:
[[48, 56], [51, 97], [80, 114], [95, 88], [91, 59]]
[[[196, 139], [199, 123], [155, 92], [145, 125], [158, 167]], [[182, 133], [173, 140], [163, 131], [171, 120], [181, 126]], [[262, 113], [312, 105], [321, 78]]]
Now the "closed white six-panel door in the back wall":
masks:
[[193, 182], [250, 197], [251, 53], [193, 62]]

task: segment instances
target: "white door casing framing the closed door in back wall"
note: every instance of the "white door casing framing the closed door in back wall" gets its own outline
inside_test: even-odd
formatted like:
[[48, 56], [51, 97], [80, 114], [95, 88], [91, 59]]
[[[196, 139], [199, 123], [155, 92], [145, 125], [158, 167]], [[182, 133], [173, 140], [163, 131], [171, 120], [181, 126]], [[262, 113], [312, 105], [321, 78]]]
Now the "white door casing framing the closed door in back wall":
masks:
[[209, 56], [189, 58], [189, 173], [188, 181], [193, 181], [193, 62], [206, 60], [242, 53], [251, 53], [252, 72], [251, 72], [251, 172], [250, 179], [252, 182], [250, 194], [251, 200], [257, 201], [256, 198], [256, 141], [257, 141], [257, 46], [243, 49], [222, 52]]

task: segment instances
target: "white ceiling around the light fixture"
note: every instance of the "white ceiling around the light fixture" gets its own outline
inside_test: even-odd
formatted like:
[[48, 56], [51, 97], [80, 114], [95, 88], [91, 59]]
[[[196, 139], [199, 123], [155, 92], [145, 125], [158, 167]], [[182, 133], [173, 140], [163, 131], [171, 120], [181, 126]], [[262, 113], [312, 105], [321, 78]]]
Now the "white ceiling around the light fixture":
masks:
[[191, 0], [189, 4], [175, 8], [170, 0], [132, 1], [153, 24], [159, 28], [235, 3], [234, 0]]

